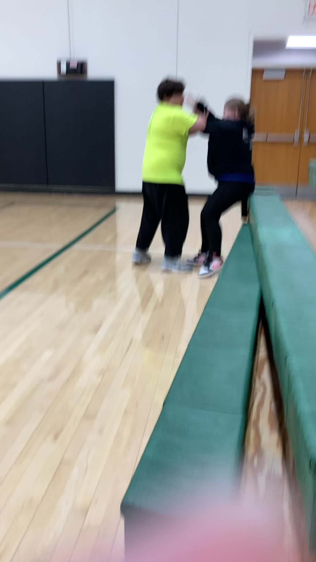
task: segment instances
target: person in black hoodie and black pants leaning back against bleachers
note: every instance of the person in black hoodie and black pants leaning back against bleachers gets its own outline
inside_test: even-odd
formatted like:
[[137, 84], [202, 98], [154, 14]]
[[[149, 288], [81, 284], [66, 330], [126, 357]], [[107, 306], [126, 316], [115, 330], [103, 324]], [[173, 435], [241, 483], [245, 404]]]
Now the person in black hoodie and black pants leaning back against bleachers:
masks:
[[[197, 104], [196, 111], [204, 110]], [[219, 219], [224, 211], [238, 201], [246, 201], [255, 189], [252, 167], [254, 114], [249, 103], [229, 99], [223, 119], [209, 114], [204, 133], [209, 135], [207, 167], [218, 182], [201, 212], [201, 251], [189, 262], [200, 265], [199, 277], [218, 273], [223, 267], [221, 257], [222, 230]]]

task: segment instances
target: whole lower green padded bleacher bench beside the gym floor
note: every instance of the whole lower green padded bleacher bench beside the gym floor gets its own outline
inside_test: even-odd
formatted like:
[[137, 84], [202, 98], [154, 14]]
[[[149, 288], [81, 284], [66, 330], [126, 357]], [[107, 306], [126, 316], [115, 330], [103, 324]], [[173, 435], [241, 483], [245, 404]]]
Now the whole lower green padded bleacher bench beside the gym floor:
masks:
[[[173, 518], [181, 498], [240, 473], [260, 307], [251, 232], [241, 228], [121, 504], [125, 547], [139, 523]], [[224, 470], [224, 474], [223, 474]]]

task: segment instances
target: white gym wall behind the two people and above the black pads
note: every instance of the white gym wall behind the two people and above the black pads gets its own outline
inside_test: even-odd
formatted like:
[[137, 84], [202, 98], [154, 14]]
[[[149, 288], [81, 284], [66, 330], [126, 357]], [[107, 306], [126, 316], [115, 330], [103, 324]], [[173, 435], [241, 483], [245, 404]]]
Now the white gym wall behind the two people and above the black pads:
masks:
[[[146, 129], [155, 90], [178, 75], [221, 114], [248, 97], [253, 38], [316, 33], [304, 0], [1, 0], [0, 78], [55, 78], [57, 59], [87, 58], [89, 78], [116, 83], [116, 189], [141, 191]], [[190, 193], [213, 191], [206, 139], [189, 141]]]

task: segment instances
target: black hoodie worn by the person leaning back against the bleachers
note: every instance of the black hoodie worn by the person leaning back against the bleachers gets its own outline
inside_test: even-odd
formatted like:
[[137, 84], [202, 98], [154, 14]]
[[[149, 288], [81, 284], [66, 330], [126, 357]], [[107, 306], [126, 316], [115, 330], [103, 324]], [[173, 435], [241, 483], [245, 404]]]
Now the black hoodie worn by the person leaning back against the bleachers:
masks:
[[217, 119], [210, 113], [205, 134], [209, 135], [207, 167], [218, 182], [255, 183], [252, 167], [254, 125], [246, 121]]

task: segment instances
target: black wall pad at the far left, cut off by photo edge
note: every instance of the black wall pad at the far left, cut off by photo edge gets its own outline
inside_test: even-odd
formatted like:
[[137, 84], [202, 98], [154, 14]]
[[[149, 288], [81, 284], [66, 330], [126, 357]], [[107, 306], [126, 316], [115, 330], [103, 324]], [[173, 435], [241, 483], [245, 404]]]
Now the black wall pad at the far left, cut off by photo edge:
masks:
[[0, 184], [47, 184], [42, 81], [0, 81]]

